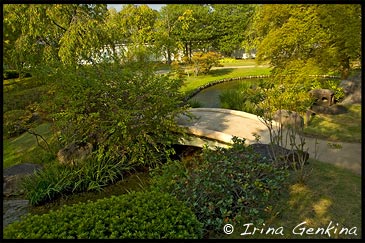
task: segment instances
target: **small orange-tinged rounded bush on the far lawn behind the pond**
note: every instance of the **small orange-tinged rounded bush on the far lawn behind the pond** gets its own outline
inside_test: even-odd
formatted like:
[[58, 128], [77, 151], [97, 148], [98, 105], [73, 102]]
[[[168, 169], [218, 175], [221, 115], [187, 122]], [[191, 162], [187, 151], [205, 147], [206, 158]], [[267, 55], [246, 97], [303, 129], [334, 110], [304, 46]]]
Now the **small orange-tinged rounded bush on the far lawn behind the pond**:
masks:
[[216, 52], [194, 52], [191, 62], [194, 67], [195, 76], [207, 74], [214, 66], [219, 66], [220, 55]]

